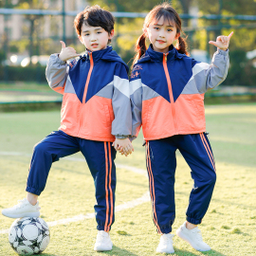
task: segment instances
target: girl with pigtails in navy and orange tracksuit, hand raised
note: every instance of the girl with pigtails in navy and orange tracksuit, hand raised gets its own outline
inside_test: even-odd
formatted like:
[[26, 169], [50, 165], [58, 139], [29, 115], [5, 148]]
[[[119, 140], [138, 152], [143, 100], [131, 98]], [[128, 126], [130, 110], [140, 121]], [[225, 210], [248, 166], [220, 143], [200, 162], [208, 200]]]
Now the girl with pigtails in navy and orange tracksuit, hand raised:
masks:
[[[167, 253], [174, 252], [171, 231], [175, 218], [177, 149], [192, 170], [194, 184], [187, 221], [176, 234], [199, 251], [210, 250], [197, 228], [208, 210], [216, 180], [214, 158], [206, 136], [204, 94], [227, 77], [232, 35], [209, 42], [218, 49], [212, 63], [204, 64], [188, 57], [181, 32], [181, 20], [169, 4], [152, 9], [137, 40], [130, 82], [133, 136], [137, 137], [142, 125], [153, 219], [161, 234], [156, 251]], [[146, 38], [151, 43], [148, 49]]]

